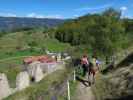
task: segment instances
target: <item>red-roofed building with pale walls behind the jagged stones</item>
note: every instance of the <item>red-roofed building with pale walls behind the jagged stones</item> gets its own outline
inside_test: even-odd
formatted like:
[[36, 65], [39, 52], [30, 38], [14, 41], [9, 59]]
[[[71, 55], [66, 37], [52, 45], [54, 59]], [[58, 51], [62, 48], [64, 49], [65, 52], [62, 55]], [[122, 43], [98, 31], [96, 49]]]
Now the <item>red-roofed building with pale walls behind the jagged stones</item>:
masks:
[[64, 61], [57, 61], [56, 58], [48, 55], [28, 57], [25, 58], [23, 62], [25, 69], [32, 77], [36, 74], [38, 67], [47, 75], [57, 69], [63, 68], [65, 65]]

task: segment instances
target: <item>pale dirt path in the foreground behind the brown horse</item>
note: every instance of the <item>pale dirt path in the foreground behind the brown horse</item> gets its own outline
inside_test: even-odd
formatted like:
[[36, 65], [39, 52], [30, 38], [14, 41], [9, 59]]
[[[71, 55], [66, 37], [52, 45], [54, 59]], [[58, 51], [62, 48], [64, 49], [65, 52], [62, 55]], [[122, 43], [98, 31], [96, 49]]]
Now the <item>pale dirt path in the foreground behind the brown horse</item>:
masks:
[[81, 82], [78, 85], [76, 96], [76, 100], [95, 100], [91, 87], [87, 87]]

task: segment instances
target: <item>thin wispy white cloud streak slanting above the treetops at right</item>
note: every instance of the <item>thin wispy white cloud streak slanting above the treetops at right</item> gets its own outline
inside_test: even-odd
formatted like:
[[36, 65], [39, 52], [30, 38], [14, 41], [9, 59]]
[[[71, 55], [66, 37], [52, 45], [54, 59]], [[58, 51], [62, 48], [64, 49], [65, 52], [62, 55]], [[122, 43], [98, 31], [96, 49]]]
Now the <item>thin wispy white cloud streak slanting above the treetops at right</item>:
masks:
[[111, 6], [112, 4], [106, 4], [106, 5], [97, 6], [97, 7], [83, 7], [83, 8], [75, 9], [75, 11], [99, 10], [99, 9], [109, 8]]

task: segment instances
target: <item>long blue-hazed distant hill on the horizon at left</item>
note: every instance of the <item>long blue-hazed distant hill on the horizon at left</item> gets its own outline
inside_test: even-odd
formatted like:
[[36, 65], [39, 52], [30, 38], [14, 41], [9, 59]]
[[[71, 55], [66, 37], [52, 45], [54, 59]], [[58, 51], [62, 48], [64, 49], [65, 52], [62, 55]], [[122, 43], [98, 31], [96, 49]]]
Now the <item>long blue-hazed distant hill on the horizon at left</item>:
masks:
[[13, 30], [18, 28], [20, 29], [25, 27], [54, 27], [63, 22], [63, 19], [0, 17], [0, 31]]

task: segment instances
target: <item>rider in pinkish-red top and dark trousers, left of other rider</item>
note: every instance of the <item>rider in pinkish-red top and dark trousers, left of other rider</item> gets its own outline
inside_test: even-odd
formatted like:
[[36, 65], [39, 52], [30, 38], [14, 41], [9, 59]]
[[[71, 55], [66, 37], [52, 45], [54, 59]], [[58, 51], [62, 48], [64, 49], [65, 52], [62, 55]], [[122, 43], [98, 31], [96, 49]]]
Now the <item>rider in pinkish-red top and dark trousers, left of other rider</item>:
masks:
[[88, 72], [88, 65], [89, 65], [87, 55], [84, 55], [82, 57], [81, 64], [82, 64], [82, 68], [83, 68], [83, 76], [86, 76], [86, 73]]

